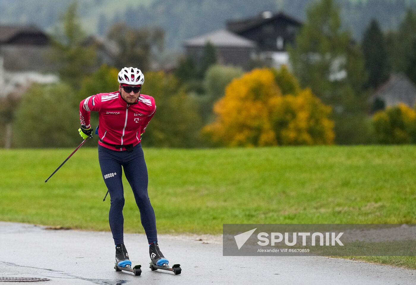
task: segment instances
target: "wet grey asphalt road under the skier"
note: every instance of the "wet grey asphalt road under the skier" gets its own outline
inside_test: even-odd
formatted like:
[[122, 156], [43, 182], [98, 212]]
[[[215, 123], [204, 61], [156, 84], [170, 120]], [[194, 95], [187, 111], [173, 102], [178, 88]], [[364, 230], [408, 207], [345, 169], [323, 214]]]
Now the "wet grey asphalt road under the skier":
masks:
[[[115, 272], [111, 233], [45, 230], [0, 222], [0, 280], [48, 278], [30, 284], [416, 284], [416, 270], [351, 260], [300, 256], [223, 256], [222, 245], [159, 235], [170, 264], [181, 275], [149, 269], [144, 235], [125, 234], [124, 243], [141, 276]], [[22, 283], [4, 283], [22, 284]]]

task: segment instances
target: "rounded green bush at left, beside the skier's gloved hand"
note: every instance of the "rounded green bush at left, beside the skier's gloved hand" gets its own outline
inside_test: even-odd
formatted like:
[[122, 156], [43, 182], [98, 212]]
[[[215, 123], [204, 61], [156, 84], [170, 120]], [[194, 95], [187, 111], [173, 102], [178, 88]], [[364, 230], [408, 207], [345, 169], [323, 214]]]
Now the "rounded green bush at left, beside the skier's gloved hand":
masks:
[[64, 147], [79, 144], [79, 110], [74, 91], [65, 83], [33, 85], [17, 109], [14, 145]]

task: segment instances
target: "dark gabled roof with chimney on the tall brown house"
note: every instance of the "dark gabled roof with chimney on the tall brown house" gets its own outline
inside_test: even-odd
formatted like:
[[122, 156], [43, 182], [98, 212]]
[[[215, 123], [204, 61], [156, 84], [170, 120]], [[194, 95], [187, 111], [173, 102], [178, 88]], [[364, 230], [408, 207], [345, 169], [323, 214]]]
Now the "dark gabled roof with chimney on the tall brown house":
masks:
[[302, 25], [302, 22], [300, 22], [299, 20], [289, 15], [286, 15], [282, 11], [277, 12], [275, 14], [271, 14], [270, 12], [265, 11], [265, 12], [260, 13], [260, 15], [258, 15], [257, 17], [246, 18], [243, 20], [229, 20], [227, 21], [227, 29], [230, 30], [231, 32], [240, 33], [246, 30], [253, 29], [260, 25], [267, 24], [276, 19], [284, 19], [287, 22], [290, 22], [296, 26]]

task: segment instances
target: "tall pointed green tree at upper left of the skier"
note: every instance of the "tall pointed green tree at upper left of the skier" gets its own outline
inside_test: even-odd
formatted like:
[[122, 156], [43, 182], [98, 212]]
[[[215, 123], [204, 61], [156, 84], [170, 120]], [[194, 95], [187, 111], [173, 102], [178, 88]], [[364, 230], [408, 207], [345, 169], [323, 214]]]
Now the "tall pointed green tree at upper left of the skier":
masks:
[[86, 37], [77, 15], [77, 2], [69, 5], [62, 26], [63, 30], [52, 37], [50, 59], [57, 65], [61, 79], [78, 88], [82, 78], [92, 72], [96, 51], [83, 45]]

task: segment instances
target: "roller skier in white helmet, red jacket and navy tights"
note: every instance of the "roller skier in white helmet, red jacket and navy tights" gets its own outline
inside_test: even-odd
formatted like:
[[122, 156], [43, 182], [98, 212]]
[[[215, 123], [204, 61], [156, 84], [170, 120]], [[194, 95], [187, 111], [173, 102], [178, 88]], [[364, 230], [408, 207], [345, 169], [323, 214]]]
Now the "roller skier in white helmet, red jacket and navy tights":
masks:
[[141, 148], [141, 136], [156, 111], [153, 97], [140, 94], [144, 75], [140, 69], [124, 67], [118, 74], [119, 90], [99, 93], [79, 104], [83, 139], [92, 137], [90, 112], [98, 112], [98, 160], [104, 182], [111, 197], [109, 223], [116, 245], [116, 265], [131, 267], [131, 261], [123, 240], [124, 194], [121, 182], [121, 166], [139, 207], [141, 224], [149, 242], [152, 262], [168, 266], [168, 260], [157, 243], [156, 218], [147, 193], [147, 168]]

